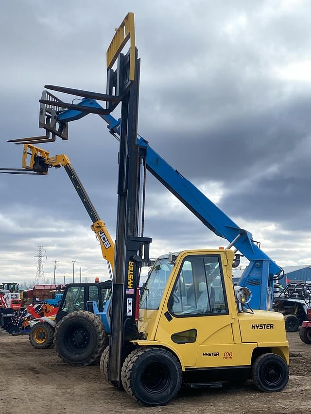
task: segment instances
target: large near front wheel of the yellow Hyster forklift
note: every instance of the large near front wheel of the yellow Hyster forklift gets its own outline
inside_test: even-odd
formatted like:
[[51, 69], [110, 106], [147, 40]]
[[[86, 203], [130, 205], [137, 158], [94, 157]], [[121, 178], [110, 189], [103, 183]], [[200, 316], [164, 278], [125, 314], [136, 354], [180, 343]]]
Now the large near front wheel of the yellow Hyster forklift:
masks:
[[168, 404], [181, 387], [181, 365], [163, 348], [135, 349], [124, 361], [122, 371], [125, 391], [147, 407]]

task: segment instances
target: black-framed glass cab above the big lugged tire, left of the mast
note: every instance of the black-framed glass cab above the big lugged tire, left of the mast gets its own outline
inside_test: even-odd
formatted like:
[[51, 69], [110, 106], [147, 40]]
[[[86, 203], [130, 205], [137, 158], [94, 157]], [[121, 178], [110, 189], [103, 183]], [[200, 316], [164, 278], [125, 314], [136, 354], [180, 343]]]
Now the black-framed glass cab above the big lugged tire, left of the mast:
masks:
[[100, 312], [104, 311], [106, 302], [111, 296], [112, 282], [100, 283], [69, 283], [56, 315], [56, 324], [66, 315], [74, 311], [91, 311], [91, 304], [96, 302]]

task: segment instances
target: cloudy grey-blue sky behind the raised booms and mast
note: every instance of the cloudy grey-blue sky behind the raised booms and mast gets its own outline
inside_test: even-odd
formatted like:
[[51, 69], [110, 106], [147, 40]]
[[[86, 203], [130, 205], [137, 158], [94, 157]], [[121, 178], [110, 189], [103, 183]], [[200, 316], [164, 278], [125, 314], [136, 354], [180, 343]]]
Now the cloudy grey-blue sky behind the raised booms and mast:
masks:
[[[45, 83], [105, 92], [105, 51], [129, 11], [141, 58], [139, 133], [279, 265], [310, 264], [310, 1], [2, 2], [0, 167], [21, 167], [22, 147], [7, 139], [44, 134]], [[69, 156], [114, 238], [118, 142], [105, 122], [71, 122], [68, 141], [41, 147]], [[34, 281], [38, 246], [50, 281], [54, 260], [57, 282], [72, 280], [72, 260], [83, 280], [106, 279], [63, 169], [2, 174], [0, 197], [0, 282]], [[152, 257], [226, 244], [150, 174], [145, 235]]]

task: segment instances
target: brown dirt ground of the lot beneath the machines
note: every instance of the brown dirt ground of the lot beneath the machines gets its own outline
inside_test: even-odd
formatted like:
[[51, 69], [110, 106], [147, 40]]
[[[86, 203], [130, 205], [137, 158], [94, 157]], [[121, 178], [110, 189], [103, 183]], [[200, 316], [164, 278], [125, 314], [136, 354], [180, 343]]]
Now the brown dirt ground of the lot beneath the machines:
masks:
[[0, 330], [0, 413], [307, 413], [311, 410], [311, 346], [289, 333], [291, 377], [284, 391], [257, 392], [249, 382], [183, 390], [166, 407], [145, 408], [101, 378], [98, 366], [63, 364], [54, 349], [33, 348], [27, 336]]

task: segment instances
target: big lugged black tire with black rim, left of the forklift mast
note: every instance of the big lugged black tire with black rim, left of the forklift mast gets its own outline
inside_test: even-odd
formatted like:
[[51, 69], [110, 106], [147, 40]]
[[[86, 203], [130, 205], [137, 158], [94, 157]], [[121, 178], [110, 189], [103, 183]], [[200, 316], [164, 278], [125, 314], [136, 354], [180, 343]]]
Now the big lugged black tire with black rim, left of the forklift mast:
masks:
[[88, 311], [71, 312], [55, 329], [54, 348], [66, 364], [95, 364], [107, 344], [103, 322]]

